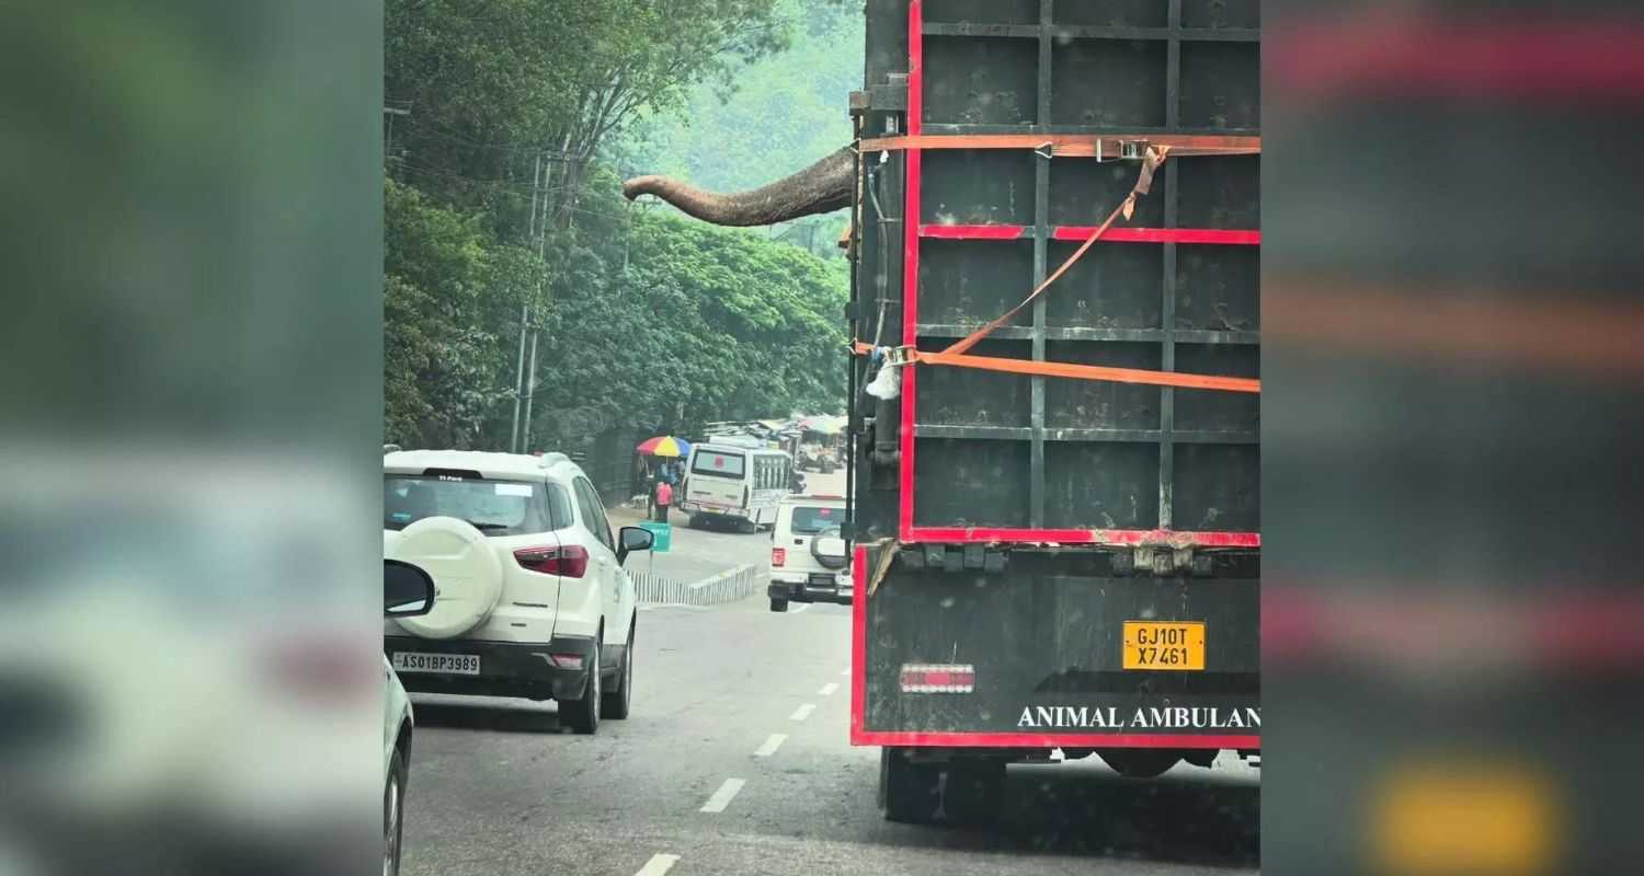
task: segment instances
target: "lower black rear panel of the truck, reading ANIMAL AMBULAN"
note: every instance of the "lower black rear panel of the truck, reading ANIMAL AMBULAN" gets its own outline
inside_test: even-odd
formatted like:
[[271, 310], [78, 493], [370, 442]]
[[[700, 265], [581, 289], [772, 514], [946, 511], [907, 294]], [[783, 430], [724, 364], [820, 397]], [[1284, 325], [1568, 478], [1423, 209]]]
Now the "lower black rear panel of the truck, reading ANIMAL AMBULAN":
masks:
[[[858, 547], [857, 590], [873, 567]], [[893, 565], [852, 613], [852, 745], [1259, 751], [1259, 579], [1092, 567], [1088, 554], [1013, 556], [1003, 572]], [[1202, 623], [1202, 667], [1126, 669], [1126, 621]], [[962, 684], [909, 684], [921, 671]]]

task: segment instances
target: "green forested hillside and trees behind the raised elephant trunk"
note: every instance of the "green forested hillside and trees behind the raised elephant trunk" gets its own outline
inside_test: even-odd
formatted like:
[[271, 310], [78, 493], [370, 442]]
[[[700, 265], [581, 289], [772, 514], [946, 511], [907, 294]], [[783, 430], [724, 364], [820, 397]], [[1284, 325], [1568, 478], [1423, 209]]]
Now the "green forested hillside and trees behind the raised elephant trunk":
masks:
[[385, 439], [510, 449], [523, 316], [529, 449], [842, 409], [843, 217], [712, 228], [620, 179], [838, 148], [860, 28], [858, 0], [388, 0]]

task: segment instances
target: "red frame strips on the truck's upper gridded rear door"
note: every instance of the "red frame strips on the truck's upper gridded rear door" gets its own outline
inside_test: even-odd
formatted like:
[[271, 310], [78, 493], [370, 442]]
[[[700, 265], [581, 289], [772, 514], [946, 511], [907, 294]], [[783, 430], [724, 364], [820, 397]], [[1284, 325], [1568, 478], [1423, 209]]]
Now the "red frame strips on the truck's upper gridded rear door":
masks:
[[[919, 136], [924, 127], [924, 2], [907, 3], [907, 136]], [[907, 146], [907, 192], [903, 215], [903, 345], [919, 343], [919, 240], [1016, 240], [1024, 225], [921, 225], [919, 219], [919, 174], [924, 150]], [[1092, 227], [1062, 225], [1052, 232], [1055, 240], [1088, 240], [1095, 233]], [[1223, 230], [1223, 228], [1108, 228], [1101, 235], [1103, 242], [1115, 243], [1223, 243], [1223, 245], [1259, 245], [1259, 230]], [[904, 544], [914, 542], [949, 542], [949, 544], [993, 544], [993, 542], [1059, 542], [1059, 544], [1171, 544], [1200, 547], [1261, 547], [1259, 533], [1172, 533], [1164, 529], [1009, 529], [1009, 528], [945, 528], [914, 526], [914, 394], [919, 380], [919, 368], [907, 365], [903, 368], [903, 424], [898, 431], [901, 447], [901, 465], [898, 468], [898, 485], [901, 505], [898, 508], [896, 537]], [[857, 593], [865, 593], [858, 587]], [[857, 598], [860, 606], [863, 598]], [[860, 613], [860, 611], [858, 611]], [[858, 664], [860, 666], [860, 664]], [[852, 718], [852, 738], [858, 733], [857, 715]], [[967, 738], [972, 738], [967, 735]], [[1011, 735], [1011, 738], [1018, 738]], [[1197, 736], [1195, 736], [1197, 738]], [[868, 745], [868, 743], [863, 743]], [[927, 743], [871, 743], [871, 745], [927, 745]], [[940, 743], [929, 743], [940, 745]], [[960, 743], [952, 743], [960, 745]], [[988, 743], [972, 743], [988, 745]], [[1118, 743], [1129, 745], [1129, 743]], [[1169, 743], [1159, 743], [1169, 745]]]

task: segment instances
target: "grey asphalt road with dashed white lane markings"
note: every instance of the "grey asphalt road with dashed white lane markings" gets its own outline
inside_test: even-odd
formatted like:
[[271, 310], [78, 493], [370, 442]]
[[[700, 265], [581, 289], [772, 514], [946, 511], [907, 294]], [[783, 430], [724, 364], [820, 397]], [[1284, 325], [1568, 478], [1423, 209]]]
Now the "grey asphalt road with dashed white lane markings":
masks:
[[[692, 531], [695, 536], [697, 533]], [[687, 551], [758, 556], [766, 534]], [[738, 546], [718, 539], [738, 539]], [[738, 559], [737, 562], [745, 562]], [[845, 606], [641, 611], [633, 715], [561, 731], [552, 703], [416, 695], [408, 874], [1225, 873], [1258, 861], [1256, 771], [1121, 781], [1013, 766], [991, 830], [884, 822], [878, 749], [847, 743]]]

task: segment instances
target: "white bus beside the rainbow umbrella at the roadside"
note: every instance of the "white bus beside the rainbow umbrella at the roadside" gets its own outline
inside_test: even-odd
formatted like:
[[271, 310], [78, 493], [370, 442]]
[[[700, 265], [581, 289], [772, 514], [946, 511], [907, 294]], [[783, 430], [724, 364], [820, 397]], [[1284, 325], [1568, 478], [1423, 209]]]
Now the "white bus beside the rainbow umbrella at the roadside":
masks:
[[776, 506], [791, 491], [794, 460], [753, 444], [715, 439], [690, 447], [676, 500], [690, 526], [732, 523], [746, 533], [776, 526]]

